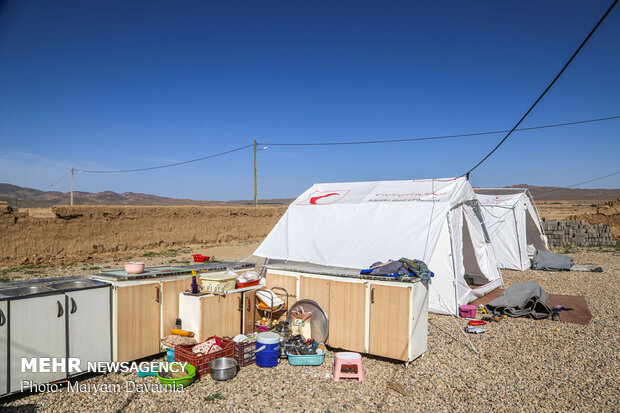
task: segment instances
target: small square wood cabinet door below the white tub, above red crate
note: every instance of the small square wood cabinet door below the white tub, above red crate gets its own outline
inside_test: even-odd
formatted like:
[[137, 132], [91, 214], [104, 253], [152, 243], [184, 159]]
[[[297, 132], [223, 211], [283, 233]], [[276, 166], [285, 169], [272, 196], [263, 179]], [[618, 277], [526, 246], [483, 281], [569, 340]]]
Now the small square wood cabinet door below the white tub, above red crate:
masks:
[[211, 336], [234, 337], [241, 332], [241, 293], [201, 298], [200, 341]]

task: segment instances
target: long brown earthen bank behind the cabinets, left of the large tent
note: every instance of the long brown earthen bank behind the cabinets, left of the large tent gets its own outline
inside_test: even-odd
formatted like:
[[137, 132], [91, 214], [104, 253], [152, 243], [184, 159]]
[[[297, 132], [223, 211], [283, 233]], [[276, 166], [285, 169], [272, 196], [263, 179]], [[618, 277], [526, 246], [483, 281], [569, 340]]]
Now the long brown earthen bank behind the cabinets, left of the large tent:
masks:
[[262, 240], [282, 207], [56, 206], [55, 218], [0, 214], [0, 265], [67, 264], [189, 244]]

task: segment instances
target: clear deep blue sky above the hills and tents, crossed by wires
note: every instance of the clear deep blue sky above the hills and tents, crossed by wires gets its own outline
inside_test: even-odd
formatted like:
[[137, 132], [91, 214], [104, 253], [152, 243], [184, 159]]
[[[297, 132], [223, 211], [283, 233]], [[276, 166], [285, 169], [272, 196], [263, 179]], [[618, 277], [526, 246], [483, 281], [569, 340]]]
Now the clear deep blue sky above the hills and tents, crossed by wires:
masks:
[[[259, 142], [509, 129], [611, 2], [4, 1], [0, 182], [128, 169]], [[620, 9], [522, 126], [620, 115]], [[620, 170], [620, 120], [513, 135], [476, 186], [563, 186]], [[463, 174], [501, 135], [258, 154], [259, 196], [314, 182]], [[252, 151], [75, 189], [250, 199]], [[585, 187], [619, 188], [620, 175]], [[53, 190], [68, 191], [65, 177]]]

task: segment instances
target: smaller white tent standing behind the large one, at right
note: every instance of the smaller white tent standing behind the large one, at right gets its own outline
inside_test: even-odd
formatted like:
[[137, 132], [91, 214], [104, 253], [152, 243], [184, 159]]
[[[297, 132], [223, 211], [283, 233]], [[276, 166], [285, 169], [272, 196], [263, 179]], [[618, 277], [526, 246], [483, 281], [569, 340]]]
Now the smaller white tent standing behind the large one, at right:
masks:
[[476, 191], [496, 192], [493, 195], [478, 193], [478, 199], [499, 266], [520, 271], [530, 268], [533, 250], [548, 248], [529, 191], [519, 189], [518, 193], [503, 195], [497, 195], [497, 189], [477, 188]]

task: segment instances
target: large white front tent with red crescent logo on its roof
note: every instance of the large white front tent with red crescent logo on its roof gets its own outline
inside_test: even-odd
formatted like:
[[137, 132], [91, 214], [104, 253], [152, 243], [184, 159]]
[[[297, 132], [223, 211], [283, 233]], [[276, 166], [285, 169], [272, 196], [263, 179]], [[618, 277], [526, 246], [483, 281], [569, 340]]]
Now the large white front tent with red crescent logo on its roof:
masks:
[[429, 309], [438, 313], [457, 314], [503, 284], [466, 178], [315, 184], [254, 255], [358, 269], [421, 259], [435, 273]]

